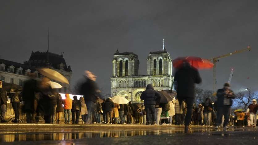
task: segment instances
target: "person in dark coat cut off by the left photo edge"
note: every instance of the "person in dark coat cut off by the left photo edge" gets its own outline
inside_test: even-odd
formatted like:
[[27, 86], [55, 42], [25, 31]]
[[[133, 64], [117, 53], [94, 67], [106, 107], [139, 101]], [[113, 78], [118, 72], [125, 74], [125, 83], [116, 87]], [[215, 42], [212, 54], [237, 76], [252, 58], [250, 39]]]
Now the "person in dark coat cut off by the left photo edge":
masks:
[[1, 122], [7, 122], [5, 120], [7, 94], [4, 86], [2, 85], [2, 80], [0, 80], [0, 104], [1, 104]]

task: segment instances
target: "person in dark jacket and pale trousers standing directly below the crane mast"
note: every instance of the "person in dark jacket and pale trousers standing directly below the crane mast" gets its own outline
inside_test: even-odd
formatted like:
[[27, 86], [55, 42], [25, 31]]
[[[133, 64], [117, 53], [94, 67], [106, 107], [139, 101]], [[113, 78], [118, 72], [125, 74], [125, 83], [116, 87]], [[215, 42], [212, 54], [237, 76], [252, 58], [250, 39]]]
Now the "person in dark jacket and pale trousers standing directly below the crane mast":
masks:
[[213, 106], [210, 102], [209, 98], [205, 99], [205, 102], [202, 103], [202, 106], [204, 106], [204, 110], [203, 110], [203, 115], [204, 115], [204, 124], [205, 127], [210, 127], [210, 122], [211, 122], [211, 113], [213, 111]]

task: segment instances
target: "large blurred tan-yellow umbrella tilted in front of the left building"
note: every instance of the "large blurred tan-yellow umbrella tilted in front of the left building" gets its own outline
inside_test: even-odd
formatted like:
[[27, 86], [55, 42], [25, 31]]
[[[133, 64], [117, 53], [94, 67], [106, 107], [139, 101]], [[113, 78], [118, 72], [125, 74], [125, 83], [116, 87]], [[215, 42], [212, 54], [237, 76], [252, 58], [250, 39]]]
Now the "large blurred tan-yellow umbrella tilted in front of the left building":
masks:
[[49, 79], [53, 79], [61, 83], [69, 84], [69, 81], [66, 79], [66, 77], [64, 77], [63, 75], [61, 75], [59, 72], [55, 70], [52, 70], [49, 68], [41, 68], [41, 69], [38, 69], [38, 72], [41, 75], [48, 77]]

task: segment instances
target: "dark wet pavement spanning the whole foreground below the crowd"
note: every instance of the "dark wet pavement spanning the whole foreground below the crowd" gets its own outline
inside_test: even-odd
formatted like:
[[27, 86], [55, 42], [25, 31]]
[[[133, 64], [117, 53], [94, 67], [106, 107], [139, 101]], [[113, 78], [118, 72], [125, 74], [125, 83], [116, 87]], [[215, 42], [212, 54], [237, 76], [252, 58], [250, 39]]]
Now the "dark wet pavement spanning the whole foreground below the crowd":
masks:
[[[230, 127], [228, 131], [215, 131], [214, 128], [194, 126], [185, 133], [184, 126], [3, 126], [0, 125], [0, 144], [258, 144], [258, 130], [249, 127]], [[37, 129], [36, 126], [44, 127]]]

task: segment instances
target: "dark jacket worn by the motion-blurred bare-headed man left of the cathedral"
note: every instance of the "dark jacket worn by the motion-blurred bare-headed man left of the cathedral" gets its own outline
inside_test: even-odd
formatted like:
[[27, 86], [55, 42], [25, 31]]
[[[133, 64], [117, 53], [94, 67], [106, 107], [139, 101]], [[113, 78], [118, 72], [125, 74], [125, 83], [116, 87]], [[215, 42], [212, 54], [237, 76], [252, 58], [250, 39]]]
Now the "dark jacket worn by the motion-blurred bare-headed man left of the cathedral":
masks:
[[85, 83], [81, 85], [80, 95], [83, 95], [85, 102], [97, 100], [98, 93], [97, 84], [91, 79], [87, 79]]

